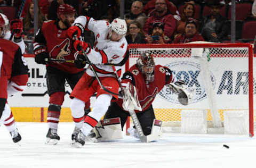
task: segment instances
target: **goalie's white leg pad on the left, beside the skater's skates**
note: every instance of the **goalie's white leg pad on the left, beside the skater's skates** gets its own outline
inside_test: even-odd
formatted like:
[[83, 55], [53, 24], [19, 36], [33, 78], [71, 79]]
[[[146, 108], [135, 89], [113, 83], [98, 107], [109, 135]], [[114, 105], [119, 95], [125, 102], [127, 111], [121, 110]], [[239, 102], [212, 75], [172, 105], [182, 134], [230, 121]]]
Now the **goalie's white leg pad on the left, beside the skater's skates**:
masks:
[[93, 128], [98, 141], [123, 139], [120, 118], [100, 120]]

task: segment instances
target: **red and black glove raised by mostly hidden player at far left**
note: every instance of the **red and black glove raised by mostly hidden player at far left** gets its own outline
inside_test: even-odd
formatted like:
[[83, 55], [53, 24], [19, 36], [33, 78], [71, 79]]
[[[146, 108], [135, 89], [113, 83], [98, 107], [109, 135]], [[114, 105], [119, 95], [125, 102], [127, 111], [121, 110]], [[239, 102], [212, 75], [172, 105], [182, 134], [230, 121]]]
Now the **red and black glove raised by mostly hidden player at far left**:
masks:
[[19, 43], [21, 39], [21, 34], [23, 30], [22, 20], [20, 19], [13, 19], [10, 22], [10, 30], [14, 33], [14, 42]]

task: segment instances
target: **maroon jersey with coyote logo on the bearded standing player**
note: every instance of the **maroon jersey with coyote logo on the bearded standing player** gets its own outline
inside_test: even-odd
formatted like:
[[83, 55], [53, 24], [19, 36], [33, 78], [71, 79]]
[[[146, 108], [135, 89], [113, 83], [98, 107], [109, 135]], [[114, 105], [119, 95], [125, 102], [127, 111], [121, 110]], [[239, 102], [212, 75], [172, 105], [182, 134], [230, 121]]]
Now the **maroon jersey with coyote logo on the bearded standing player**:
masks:
[[[42, 30], [39, 30], [35, 37], [34, 50], [46, 46], [51, 58], [75, 60], [76, 51], [72, 46], [72, 40], [67, 35], [67, 30], [60, 29], [56, 21], [45, 21]], [[53, 66], [68, 73], [84, 70], [76, 68], [74, 63], [49, 62], [46, 66]]]

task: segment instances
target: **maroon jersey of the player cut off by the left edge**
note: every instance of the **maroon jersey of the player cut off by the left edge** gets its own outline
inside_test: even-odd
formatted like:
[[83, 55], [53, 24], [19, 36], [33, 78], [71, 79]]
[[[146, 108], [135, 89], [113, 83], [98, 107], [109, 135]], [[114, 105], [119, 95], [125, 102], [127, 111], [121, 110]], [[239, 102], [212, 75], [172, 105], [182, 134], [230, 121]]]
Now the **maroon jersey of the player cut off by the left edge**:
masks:
[[20, 47], [12, 41], [0, 39], [0, 98], [7, 99], [7, 86], [14, 83], [14, 89], [22, 91], [28, 81], [28, 66]]

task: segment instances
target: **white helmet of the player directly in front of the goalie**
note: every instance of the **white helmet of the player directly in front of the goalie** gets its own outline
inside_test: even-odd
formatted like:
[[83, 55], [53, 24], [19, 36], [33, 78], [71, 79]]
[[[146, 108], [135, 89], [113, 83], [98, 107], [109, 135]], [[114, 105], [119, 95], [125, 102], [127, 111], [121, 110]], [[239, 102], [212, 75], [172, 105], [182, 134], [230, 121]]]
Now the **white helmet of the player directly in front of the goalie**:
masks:
[[126, 32], [127, 32], [127, 25], [126, 25], [125, 20], [119, 19], [119, 18], [114, 19], [111, 22], [111, 30], [115, 31], [118, 35], [125, 36]]

